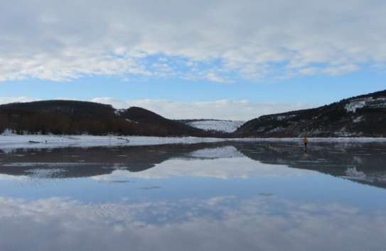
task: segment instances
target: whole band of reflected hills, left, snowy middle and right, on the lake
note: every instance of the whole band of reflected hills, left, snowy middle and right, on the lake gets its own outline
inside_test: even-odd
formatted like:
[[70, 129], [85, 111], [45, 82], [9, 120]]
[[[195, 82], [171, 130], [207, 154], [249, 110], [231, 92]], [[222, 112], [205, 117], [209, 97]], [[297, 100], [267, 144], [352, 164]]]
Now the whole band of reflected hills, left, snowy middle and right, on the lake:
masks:
[[15, 150], [0, 154], [0, 173], [45, 178], [92, 177], [115, 169], [141, 172], [172, 158], [215, 159], [245, 155], [386, 188], [386, 143], [203, 143], [136, 147]]

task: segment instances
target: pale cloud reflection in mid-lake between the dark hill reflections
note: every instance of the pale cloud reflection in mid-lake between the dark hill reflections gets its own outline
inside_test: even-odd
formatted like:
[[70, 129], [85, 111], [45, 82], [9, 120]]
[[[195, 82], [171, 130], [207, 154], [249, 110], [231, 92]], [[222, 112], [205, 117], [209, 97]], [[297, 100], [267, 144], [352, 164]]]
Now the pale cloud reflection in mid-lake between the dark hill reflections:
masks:
[[284, 165], [263, 164], [245, 157], [234, 157], [215, 160], [167, 160], [156, 167], [143, 172], [114, 170], [112, 174], [92, 177], [98, 181], [132, 179], [159, 179], [169, 177], [213, 177], [218, 179], [249, 178], [258, 176], [299, 176], [313, 174], [313, 171], [289, 168]]

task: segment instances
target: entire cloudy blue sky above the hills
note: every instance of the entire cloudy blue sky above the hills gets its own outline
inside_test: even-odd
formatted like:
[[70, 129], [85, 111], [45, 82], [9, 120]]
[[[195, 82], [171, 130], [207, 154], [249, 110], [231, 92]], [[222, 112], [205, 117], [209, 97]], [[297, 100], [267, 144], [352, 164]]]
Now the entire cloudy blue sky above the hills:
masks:
[[386, 89], [384, 0], [0, 4], [0, 104], [248, 121]]

